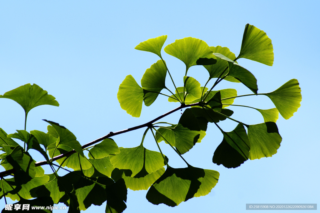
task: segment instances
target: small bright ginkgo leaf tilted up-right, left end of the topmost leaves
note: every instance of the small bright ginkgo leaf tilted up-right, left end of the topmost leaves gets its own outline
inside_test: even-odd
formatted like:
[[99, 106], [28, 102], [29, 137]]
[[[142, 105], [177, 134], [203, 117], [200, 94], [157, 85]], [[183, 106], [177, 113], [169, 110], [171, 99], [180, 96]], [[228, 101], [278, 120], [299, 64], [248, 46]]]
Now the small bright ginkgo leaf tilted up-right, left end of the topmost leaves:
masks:
[[161, 49], [165, 40], [167, 40], [167, 35], [150, 38], [147, 41], [139, 43], [134, 49], [153, 52], [161, 58]]

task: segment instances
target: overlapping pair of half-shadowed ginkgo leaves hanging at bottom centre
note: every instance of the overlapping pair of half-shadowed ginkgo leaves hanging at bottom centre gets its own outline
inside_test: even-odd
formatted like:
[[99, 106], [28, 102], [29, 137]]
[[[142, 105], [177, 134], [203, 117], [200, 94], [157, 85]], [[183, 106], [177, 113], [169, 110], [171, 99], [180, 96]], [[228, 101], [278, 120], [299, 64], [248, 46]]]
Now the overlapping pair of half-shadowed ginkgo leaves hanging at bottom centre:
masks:
[[155, 205], [164, 203], [171, 207], [178, 206], [190, 198], [208, 194], [218, 178], [219, 172], [213, 170], [169, 167], [150, 187], [146, 198]]

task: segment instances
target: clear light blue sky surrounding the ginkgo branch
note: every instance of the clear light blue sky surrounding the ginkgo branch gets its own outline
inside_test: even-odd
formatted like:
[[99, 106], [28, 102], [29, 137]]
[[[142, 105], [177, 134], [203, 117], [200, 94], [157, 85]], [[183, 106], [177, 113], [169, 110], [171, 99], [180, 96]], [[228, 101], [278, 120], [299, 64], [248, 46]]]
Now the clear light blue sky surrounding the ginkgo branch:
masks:
[[[205, 138], [184, 157], [195, 167], [220, 172], [212, 192], [172, 208], [149, 203], [147, 191], [128, 190], [124, 212], [245, 212], [246, 203], [319, 204], [319, 8], [319, 1], [0, 1], [0, 94], [26, 83], [38, 84], [60, 106], [31, 110], [27, 130], [46, 132], [47, 123], [42, 119], [51, 120], [71, 130], [84, 145], [179, 106], [158, 97], [153, 105], [143, 105], [140, 118], [121, 109], [116, 94], [125, 76], [131, 74], [140, 84], [145, 70], [158, 60], [153, 53], [135, 50], [137, 44], [168, 35], [165, 46], [192, 36], [209, 46], [227, 46], [237, 55], [244, 26], [250, 23], [264, 30], [274, 47], [273, 67], [238, 60], [257, 78], [258, 92], [273, 91], [292, 78], [299, 80], [302, 90], [298, 112], [289, 120], [279, 115], [277, 126], [283, 140], [277, 154], [248, 160], [236, 169], [217, 166], [212, 155], [223, 136], [209, 123]], [[162, 55], [181, 86], [185, 65], [164, 51]], [[191, 67], [188, 75], [202, 85], [209, 76], [201, 66]], [[173, 90], [169, 80], [167, 86]], [[240, 83], [223, 81], [217, 86], [225, 88], [235, 88], [238, 95], [251, 93]], [[274, 107], [271, 100], [260, 96], [238, 98], [234, 103]], [[263, 122], [254, 109], [229, 108], [236, 120]], [[0, 114], [0, 127], [8, 134], [24, 128], [24, 111], [16, 102], [0, 99]], [[180, 115], [179, 111], [162, 121], [177, 123]], [[236, 124], [224, 121], [220, 127], [231, 131]], [[113, 139], [119, 147], [135, 147], [143, 132]], [[144, 146], [158, 151], [151, 133]], [[172, 167], [185, 167], [168, 145], [161, 142], [160, 147]], [[4, 208], [3, 199], [0, 208]], [[105, 203], [86, 212], [103, 212], [104, 208]]]

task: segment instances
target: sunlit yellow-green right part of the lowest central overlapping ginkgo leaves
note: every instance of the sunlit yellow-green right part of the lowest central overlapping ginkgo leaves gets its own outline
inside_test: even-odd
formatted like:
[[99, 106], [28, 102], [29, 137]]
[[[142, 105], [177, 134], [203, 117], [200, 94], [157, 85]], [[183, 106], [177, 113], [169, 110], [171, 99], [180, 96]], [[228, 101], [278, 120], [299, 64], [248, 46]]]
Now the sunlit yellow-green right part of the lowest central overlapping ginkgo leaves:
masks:
[[219, 176], [219, 172], [215, 170], [204, 170], [204, 177], [200, 180], [201, 185], [194, 197], [200, 197], [209, 194], [212, 188], [218, 183]]

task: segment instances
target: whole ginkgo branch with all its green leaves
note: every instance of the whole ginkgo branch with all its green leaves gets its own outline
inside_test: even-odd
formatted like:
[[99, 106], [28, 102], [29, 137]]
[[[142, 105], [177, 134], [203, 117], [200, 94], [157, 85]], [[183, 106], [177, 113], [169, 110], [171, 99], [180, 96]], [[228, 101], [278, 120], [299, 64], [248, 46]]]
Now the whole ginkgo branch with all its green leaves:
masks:
[[[223, 140], [212, 157], [212, 162], [217, 165], [236, 168], [248, 159], [260, 159], [276, 154], [282, 141], [276, 125], [278, 114], [289, 119], [298, 110], [302, 99], [299, 83], [292, 79], [273, 92], [258, 93], [254, 75], [236, 61], [246, 58], [272, 66], [273, 46], [266, 33], [247, 24], [237, 57], [227, 47], [210, 47], [204, 41], [192, 37], [167, 45], [164, 51], [186, 65], [180, 87], [176, 87], [173, 82], [161, 55], [166, 38], [166, 35], [151, 38], [135, 47], [137, 50], [155, 53], [160, 60], [146, 70], [141, 86], [132, 75], [128, 75], [120, 84], [117, 94], [121, 108], [133, 117], [140, 117], [142, 104], [150, 106], [159, 94], [167, 96], [169, 102], [180, 102], [178, 108], [130, 129], [146, 128], [137, 147], [119, 148], [116, 142], [109, 138], [113, 132], [101, 139], [101, 142], [97, 140], [99, 144], [81, 146], [72, 132], [59, 123], [47, 120], [44, 120], [49, 124], [47, 133], [38, 130], [28, 132], [27, 115], [32, 108], [40, 105], [59, 106], [59, 103], [36, 84], [25, 84], [0, 95], [0, 98], [16, 101], [25, 110], [24, 130], [7, 134], [0, 128], [0, 150], [3, 152], [0, 159], [1, 166], [5, 169], [0, 172], [0, 198], [4, 198], [6, 203], [6, 197], [9, 197], [13, 201], [17, 200], [17, 204], [31, 206], [64, 203], [69, 207], [68, 212], [80, 212], [92, 204], [100, 206], [107, 201], [106, 212], [120, 213], [126, 209], [127, 189], [130, 188], [148, 190], [146, 198], [153, 204], [177, 206], [182, 201], [207, 195], [218, 183], [219, 172], [193, 167], [182, 156], [205, 137], [209, 122], [214, 123], [223, 134]], [[204, 66], [209, 72], [209, 79], [203, 87], [195, 78], [187, 75], [188, 69], [195, 65]], [[166, 86], [167, 73], [170, 75], [174, 92]], [[212, 87], [207, 88], [213, 78], [216, 78], [216, 81]], [[243, 83], [252, 94], [238, 96], [235, 89], [214, 91], [214, 87], [222, 80]], [[170, 94], [161, 93], [164, 89]], [[250, 95], [266, 95], [276, 108], [257, 109], [233, 104], [236, 98]], [[257, 110], [264, 122], [248, 125], [237, 121], [231, 118], [233, 111], [227, 109], [228, 106]], [[178, 124], [156, 122], [182, 108], [186, 110]], [[223, 131], [218, 125], [218, 122], [226, 119], [238, 123], [231, 132]], [[129, 130], [123, 132], [126, 131]], [[143, 146], [148, 132], [153, 135], [159, 152]], [[20, 144], [16, 141], [20, 141]], [[158, 145], [161, 141], [174, 149], [186, 162], [186, 168], [169, 166], [167, 156]], [[45, 161], [33, 160], [28, 153], [30, 149], [38, 151]], [[41, 168], [44, 164], [50, 166], [52, 174], [44, 174]], [[60, 169], [68, 173], [59, 176]]]

